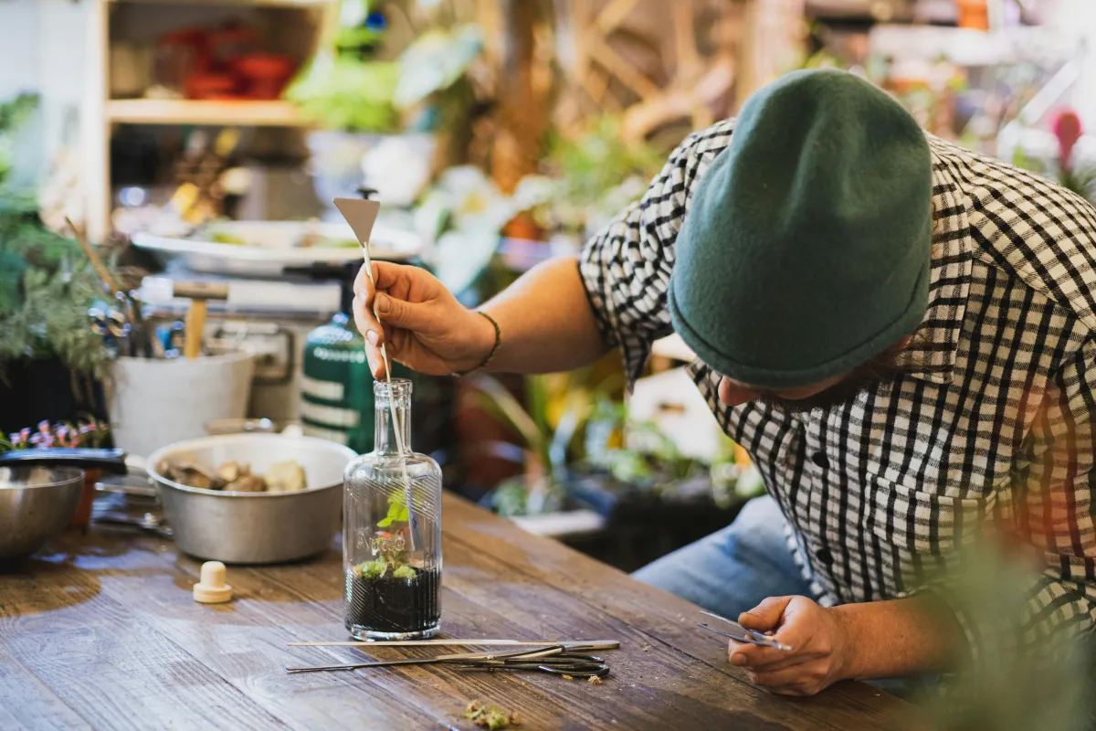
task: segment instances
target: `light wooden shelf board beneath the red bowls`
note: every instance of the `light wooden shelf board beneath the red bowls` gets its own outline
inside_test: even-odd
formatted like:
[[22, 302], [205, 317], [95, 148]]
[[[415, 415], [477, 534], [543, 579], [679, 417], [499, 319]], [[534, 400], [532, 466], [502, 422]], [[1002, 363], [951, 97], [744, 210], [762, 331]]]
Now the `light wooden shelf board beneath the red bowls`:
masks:
[[289, 102], [193, 101], [112, 99], [106, 102], [110, 122], [130, 124], [241, 125], [252, 127], [301, 127], [297, 107]]

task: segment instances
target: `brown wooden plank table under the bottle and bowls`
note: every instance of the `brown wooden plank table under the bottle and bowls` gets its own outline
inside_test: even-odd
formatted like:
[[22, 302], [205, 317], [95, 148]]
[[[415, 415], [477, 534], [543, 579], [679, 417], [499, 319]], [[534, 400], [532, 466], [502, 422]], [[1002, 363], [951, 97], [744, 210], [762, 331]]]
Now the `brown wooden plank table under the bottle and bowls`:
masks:
[[[450, 637], [617, 639], [601, 686], [540, 673], [403, 666], [289, 675], [355, 656], [341, 555], [229, 568], [231, 604], [193, 602], [173, 544], [95, 526], [0, 574], [0, 729], [471, 729], [470, 699], [526, 729], [894, 729], [909, 708], [847, 683], [760, 690], [696, 627], [696, 607], [458, 498], [444, 503]], [[427, 650], [380, 649], [376, 658]], [[359, 655], [358, 655], [359, 656]]]

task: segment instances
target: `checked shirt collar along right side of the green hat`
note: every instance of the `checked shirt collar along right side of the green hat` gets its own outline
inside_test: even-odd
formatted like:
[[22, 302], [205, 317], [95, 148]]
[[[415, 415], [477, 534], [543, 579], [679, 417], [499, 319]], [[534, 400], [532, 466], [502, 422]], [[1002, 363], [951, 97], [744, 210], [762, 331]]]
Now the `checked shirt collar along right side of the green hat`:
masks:
[[933, 153], [933, 261], [928, 307], [914, 331], [909, 375], [933, 384], [950, 384], [967, 312], [973, 245], [967, 221], [967, 197], [956, 183], [951, 146], [929, 137]]

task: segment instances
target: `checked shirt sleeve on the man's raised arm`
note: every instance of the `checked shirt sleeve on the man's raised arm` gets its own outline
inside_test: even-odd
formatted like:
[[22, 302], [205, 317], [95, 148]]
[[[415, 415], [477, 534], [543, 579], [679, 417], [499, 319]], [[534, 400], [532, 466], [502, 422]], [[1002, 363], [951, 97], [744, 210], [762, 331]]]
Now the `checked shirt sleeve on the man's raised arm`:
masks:
[[733, 121], [726, 121], [689, 135], [642, 199], [591, 238], [579, 255], [597, 327], [608, 345], [621, 350], [629, 388], [642, 375], [651, 343], [673, 331], [666, 290], [674, 241], [694, 186], [730, 142], [733, 127]]

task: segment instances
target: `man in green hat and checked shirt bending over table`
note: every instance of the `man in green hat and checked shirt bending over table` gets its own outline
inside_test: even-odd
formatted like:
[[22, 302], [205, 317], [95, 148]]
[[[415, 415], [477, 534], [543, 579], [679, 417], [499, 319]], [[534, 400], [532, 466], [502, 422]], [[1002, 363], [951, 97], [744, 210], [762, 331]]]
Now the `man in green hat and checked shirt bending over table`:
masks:
[[[1096, 212], [926, 137], [838, 71], [788, 75], [694, 134], [643, 199], [480, 312], [375, 265], [356, 318], [427, 374], [640, 375], [676, 331], [769, 498], [637, 573], [791, 652], [732, 642], [776, 693], [998, 658], [1015, 636], [921, 610], [918, 576], [991, 517], [1044, 560], [1024, 641], [1091, 631]], [[384, 324], [381, 329], [373, 309]], [[966, 526], [966, 527], [964, 527]]]

